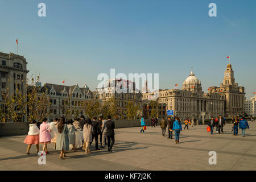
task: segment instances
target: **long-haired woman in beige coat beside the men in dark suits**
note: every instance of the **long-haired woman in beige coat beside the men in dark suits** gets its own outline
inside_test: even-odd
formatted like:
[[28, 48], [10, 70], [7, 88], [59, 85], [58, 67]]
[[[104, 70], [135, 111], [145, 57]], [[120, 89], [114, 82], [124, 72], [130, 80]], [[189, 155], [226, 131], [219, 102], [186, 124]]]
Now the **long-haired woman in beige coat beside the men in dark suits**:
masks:
[[90, 154], [90, 142], [92, 142], [92, 133], [93, 133], [93, 127], [92, 127], [92, 121], [87, 119], [85, 125], [84, 125], [84, 142], [85, 142], [85, 154]]

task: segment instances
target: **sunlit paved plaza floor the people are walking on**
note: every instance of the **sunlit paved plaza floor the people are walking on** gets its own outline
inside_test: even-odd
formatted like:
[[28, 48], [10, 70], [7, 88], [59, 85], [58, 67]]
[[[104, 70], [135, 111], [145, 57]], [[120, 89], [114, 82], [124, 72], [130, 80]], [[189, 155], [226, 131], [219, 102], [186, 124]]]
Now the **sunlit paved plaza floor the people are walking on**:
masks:
[[[85, 155], [82, 150], [69, 151], [65, 160], [59, 159], [60, 151], [53, 150], [46, 156], [46, 165], [39, 165], [36, 147], [26, 154], [23, 143], [26, 135], [0, 138], [0, 170], [255, 170], [256, 123], [249, 122], [246, 137], [232, 136], [232, 125], [226, 124], [224, 134], [210, 135], [207, 126], [189, 127], [180, 135], [180, 143], [163, 137], [160, 127], [115, 129], [113, 152], [108, 148]], [[184, 127], [184, 125], [183, 125]], [[42, 145], [40, 145], [42, 150]], [[209, 151], [217, 152], [217, 164], [210, 165]]]

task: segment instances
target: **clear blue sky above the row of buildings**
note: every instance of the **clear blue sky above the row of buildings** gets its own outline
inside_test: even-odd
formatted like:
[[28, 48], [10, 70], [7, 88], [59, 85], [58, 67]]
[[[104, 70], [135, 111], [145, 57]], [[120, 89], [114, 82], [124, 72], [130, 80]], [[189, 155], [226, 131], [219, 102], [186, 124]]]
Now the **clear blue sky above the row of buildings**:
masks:
[[[38, 4], [46, 3], [46, 17]], [[209, 17], [209, 3], [217, 17]], [[256, 92], [256, 1], [3, 1], [0, 51], [28, 62], [28, 77], [91, 90], [99, 73], [159, 73], [160, 89], [181, 88], [191, 72], [203, 90], [219, 86], [231, 56], [246, 98]]]

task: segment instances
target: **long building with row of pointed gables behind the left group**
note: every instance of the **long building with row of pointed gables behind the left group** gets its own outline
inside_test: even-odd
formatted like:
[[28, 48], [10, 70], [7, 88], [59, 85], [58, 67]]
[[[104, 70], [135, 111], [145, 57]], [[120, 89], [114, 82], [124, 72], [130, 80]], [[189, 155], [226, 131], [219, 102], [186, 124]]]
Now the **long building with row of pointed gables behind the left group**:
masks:
[[[59, 118], [65, 112], [71, 110], [71, 118], [80, 117], [85, 114], [82, 103], [87, 100], [93, 100], [93, 93], [88, 86], [80, 88], [78, 84], [72, 86], [46, 84], [47, 96], [51, 102], [49, 108], [49, 119]], [[42, 91], [44, 86], [42, 86]]]

